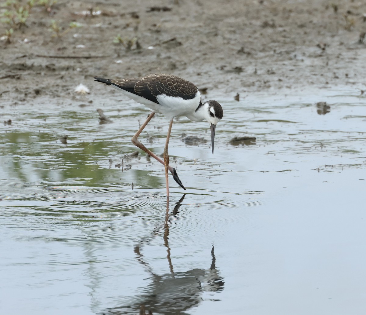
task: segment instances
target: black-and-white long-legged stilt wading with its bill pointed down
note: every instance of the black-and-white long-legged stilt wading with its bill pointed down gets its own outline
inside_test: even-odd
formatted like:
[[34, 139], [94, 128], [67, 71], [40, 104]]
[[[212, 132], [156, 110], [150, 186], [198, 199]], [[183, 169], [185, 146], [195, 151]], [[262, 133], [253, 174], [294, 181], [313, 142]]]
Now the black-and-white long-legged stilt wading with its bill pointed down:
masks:
[[[110, 80], [99, 77], [94, 77], [94, 79], [95, 81], [112, 85], [112, 87], [118, 89], [124, 95], [149, 107], [153, 111], [132, 137], [132, 143], [165, 166], [167, 197], [169, 197], [168, 170], [172, 173], [174, 180], [179, 186], [186, 190], [175, 168], [169, 166], [168, 144], [173, 118], [175, 116], [186, 116], [193, 121], [207, 120], [210, 123], [213, 154], [216, 124], [223, 118], [221, 105], [215, 100], [208, 100], [202, 104], [201, 93], [193, 83], [171, 74], [149, 74], [141, 78], [122, 80]], [[170, 120], [163, 154], [164, 161], [137, 140], [143, 128], [146, 127], [155, 113], [162, 113]]]

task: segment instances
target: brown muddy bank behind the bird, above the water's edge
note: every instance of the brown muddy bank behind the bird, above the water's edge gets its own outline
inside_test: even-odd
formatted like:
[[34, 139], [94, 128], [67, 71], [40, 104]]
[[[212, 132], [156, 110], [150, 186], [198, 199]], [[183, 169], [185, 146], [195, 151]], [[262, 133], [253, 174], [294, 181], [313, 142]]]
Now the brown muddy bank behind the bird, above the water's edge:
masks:
[[[4, 10], [4, 9], [3, 9]], [[93, 15], [90, 14], [93, 12]], [[1, 103], [74, 98], [79, 83], [173, 73], [211, 95], [365, 89], [363, 1], [58, 1], [1, 42]], [[58, 21], [60, 37], [49, 30]], [[82, 27], [67, 30], [70, 22]], [[2, 29], [7, 25], [2, 24]], [[62, 34], [64, 33], [64, 34]], [[113, 43], [113, 40], [118, 43]], [[131, 47], [130, 47], [131, 46]], [[96, 105], [97, 106], [97, 105]]]

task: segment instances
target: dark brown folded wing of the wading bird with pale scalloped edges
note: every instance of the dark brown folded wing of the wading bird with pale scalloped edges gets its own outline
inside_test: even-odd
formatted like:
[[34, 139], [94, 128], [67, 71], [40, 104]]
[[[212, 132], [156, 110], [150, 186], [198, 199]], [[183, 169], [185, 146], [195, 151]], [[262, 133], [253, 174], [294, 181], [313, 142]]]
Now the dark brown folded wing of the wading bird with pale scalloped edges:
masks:
[[158, 103], [156, 96], [160, 94], [192, 99], [198, 91], [193, 83], [171, 74], [149, 74], [141, 78], [108, 81], [116, 87], [142, 96], [154, 103]]

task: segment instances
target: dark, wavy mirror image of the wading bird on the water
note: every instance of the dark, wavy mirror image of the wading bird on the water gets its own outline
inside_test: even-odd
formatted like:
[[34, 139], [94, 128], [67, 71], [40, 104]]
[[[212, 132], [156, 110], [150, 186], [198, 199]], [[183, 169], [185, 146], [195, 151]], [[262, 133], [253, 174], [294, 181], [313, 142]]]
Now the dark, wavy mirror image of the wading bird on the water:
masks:
[[[172, 215], [177, 215], [185, 194], [176, 203]], [[211, 265], [207, 269], [194, 268], [184, 272], [174, 272], [168, 244], [169, 239], [169, 205], [164, 222], [164, 246], [167, 248], [169, 272], [163, 275], [156, 274], [153, 267], [143, 256], [140, 242], [134, 248], [136, 259], [149, 274], [150, 283], [141, 289], [141, 292], [131, 298], [131, 303], [115, 308], [108, 308], [101, 314], [145, 314], [145, 307], [149, 314], [183, 315], [202, 301], [204, 292], [219, 292], [224, 289], [224, 278], [216, 268], [214, 248], [211, 249]], [[140, 313], [139, 313], [140, 311]]]

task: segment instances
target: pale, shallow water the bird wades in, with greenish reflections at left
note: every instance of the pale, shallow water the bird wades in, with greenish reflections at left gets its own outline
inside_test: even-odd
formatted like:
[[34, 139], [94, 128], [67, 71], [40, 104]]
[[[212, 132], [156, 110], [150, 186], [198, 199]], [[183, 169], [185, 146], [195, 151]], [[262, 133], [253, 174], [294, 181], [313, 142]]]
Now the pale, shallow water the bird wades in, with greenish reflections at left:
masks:
[[[214, 155], [208, 123], [180, 118], [169, 154], [187, 190], [171, 179], [168, 215], [162, 165], [124, 156], [147, 111], [93, 99], [1, 109], [2, 314], [365, 314], [359, 91], [219, 97]], [[141, 142], [162, 153], [167, 127], [156, 115]]]

